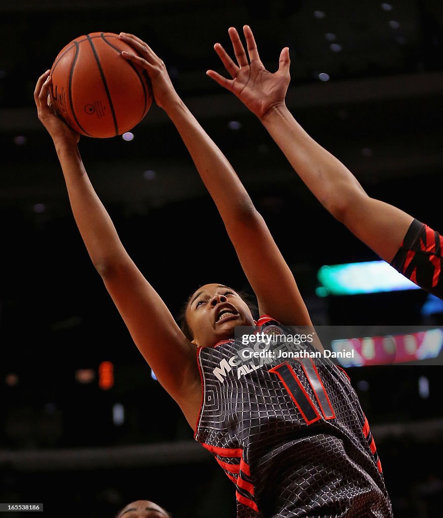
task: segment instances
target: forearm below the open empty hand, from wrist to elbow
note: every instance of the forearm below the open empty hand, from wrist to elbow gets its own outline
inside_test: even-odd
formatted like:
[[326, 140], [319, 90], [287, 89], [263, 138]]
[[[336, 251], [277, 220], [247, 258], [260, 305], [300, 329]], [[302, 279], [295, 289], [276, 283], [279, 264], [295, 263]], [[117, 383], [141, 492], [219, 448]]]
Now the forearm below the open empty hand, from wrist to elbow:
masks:
[[301, 180], [336, 218], [365, 194], [362, 186], [335, 156], [315, 142], [284, 105], [261, 121]]

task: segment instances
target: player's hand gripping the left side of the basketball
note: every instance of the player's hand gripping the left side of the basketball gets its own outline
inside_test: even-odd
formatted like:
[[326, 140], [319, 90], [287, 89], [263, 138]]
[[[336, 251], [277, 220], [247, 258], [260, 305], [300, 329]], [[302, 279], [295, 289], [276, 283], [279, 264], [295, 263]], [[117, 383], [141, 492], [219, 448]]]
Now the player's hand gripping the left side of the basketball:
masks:
[[64, 140], [67, 143], [77, 145], [80, 135], [68, 127], [56, 114], [49, 100], [49, 88], [52, 78], [47, 70], [42, 74], [35, 85], [34, 100], [37, 107], [39, 121], [48, 130], [52, 140]]

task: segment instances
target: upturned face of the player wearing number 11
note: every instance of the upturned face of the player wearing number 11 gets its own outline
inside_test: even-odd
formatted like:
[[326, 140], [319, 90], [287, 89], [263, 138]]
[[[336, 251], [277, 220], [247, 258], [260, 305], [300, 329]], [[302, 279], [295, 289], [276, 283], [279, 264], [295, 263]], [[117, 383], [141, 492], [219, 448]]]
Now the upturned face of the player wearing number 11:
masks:
[[205, 284], [190, 298], [186, 319], [198, 347], [213, 347], [234, 336], [239, 325], [253, 326], [251, 310], [240, 295], [223, 284]]

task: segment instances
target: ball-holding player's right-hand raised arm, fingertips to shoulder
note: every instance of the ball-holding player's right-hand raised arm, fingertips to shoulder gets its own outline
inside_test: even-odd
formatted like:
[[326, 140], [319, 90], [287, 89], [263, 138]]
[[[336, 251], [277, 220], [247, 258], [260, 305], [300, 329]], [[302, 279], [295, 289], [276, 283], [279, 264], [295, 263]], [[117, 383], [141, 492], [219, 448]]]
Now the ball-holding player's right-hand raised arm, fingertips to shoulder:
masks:
[[[142, 57], [123, 55], [144, 66], [151, 78], [157, 78], [158, 88], [154, 87], [157, 104], [175, 124], [222, 216], [245, 275], [258, 298], [260, 313], [270, 314], [282, 323], [309, 325], [308, 311], [292, 272], [236, 172], [178, 97], [162, 61], [139, 38], [123, 34], [120, 37]], [[282, 291], [285, 297], [282, 297]]]

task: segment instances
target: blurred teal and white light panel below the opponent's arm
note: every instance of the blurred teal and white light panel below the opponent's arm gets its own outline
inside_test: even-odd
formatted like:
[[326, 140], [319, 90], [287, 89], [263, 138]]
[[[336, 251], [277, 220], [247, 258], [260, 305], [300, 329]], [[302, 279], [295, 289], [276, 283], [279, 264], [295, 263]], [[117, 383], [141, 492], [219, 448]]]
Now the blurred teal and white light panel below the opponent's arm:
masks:
[[385, 261], [322, 266], [317, 279], [320, 297], [419, 289]]

